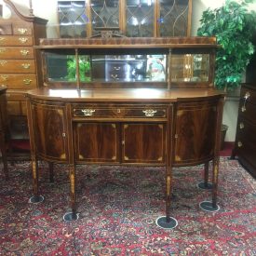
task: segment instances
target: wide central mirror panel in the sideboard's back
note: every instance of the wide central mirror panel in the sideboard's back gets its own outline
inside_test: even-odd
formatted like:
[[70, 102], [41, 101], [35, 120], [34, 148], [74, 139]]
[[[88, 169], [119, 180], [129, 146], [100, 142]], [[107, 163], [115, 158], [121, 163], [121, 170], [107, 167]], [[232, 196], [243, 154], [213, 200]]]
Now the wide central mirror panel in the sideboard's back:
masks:
[[91, 57], [92, 81], [167, 81], [166, 55], [105, 55]]

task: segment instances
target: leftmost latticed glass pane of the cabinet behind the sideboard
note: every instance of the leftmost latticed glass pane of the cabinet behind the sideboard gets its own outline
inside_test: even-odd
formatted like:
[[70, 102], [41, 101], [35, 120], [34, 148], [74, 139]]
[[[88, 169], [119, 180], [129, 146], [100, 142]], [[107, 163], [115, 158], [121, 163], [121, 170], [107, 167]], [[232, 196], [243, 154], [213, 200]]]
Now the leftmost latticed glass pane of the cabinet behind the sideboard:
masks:
[[59, 1], [59, 23], [61, 37], [86, 37], [86, 6], [84, 1]]

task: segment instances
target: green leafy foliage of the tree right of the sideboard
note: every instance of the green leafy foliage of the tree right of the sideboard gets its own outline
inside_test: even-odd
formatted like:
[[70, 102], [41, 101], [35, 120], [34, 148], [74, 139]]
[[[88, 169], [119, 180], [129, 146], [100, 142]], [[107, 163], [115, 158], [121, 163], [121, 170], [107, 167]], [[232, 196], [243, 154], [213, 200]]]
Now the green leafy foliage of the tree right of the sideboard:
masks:
[[200, 20], [200, 36], [217, 37], [221, 45], [217, 50], [215, 87], [232, 90], [238, 87], [242, 75], [254, 52], [252, 36], [255, 33], [256, 15], [248, 4], [255, 0], [226, 0], [222, 7], [207, 9]]

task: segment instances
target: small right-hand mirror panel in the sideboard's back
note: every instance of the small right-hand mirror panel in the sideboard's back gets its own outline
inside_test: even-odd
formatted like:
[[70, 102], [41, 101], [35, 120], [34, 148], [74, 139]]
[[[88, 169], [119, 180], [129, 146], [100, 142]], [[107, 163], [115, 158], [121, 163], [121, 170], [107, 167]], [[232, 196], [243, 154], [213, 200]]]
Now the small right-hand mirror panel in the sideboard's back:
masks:
[[207, 82], [209, 54], [172, 54], [170, 70], [172, 82]]

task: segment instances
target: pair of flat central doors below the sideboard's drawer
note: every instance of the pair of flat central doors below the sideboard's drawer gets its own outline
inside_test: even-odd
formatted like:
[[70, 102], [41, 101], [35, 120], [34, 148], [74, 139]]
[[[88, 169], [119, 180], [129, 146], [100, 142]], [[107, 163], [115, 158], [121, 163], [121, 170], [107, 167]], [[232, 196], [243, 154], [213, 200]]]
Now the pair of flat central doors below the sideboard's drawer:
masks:
[[78, 122], [74, 149], [76, 162], [164, 164], [166, 124]]

